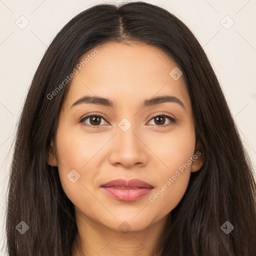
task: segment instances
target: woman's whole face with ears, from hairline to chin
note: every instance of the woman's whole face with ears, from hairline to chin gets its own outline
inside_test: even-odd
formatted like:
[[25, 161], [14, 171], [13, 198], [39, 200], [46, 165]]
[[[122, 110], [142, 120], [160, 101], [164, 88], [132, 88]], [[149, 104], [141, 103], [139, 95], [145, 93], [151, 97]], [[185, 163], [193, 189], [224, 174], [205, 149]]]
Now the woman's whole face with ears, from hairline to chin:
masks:
[[[48, 163], [58, 166], [80, 217], [114, 230], [142, 230], [165, 219], [184, 195], [190, 172], [202, 165], [182, 73], [159, 48], [134, 42], [100, 45], [80, 61]], [[163, 96], [169, 99], [151, 100]], [[149, 186], [124, 187], [133, 178]], [[114, 179], [124, 183], [102, 187]]]

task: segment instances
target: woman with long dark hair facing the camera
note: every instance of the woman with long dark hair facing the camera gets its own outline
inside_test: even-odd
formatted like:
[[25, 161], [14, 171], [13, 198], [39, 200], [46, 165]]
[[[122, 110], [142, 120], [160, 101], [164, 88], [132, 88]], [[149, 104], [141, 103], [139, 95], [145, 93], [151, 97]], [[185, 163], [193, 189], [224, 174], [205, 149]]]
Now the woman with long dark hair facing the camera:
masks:
[[98, 4], [46, 50], [16, 134], [9, 255], [256, 255], [250, 160], [191, 31]]

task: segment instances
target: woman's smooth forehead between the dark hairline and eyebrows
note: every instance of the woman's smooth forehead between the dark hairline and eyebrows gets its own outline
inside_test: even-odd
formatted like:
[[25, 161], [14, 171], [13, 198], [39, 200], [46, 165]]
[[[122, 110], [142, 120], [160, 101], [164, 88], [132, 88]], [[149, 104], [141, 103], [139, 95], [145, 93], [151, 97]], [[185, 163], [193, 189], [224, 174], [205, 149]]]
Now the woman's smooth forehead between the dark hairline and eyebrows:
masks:
[[141, 104], [152, 96], [172, 95], [189, 104], [183, 77], [174, 80], [169, 74], [177, 68], [175, 62], [156, 46], [108, 42], [88, 50], [77, 63], [78, 73], [66, 97], [69, 107], [84, 95], [110, 98], [114, 105]]

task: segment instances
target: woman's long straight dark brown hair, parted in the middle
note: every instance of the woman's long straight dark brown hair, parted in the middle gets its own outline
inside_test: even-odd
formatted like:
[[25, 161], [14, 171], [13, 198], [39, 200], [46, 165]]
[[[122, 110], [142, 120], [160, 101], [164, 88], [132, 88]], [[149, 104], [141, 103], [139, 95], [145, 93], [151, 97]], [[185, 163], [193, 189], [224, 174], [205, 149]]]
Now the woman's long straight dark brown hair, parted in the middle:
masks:
[[[46, 162], [68, 84], [54, 98], [47, 95], [83, 53], [111, 41], [154, 45], [175, 61], [183, 72], [205, 158], [168, 214], [157, 247], [160, 255], [256, 255], [253, 170], [219, 82], [187, 26], [167, 10], [141, 1], [94, 5], [73, 17], [47, 48], [15, 137], [6, 215], [9, 255], [71, 255], [77, 232], [74, 206], [61, 187], [57, 167]], [[15, 228], [21, 220], [29, 226], [23, 235]], [[221, 230], [226, 221], [234, 226], [229, 234]]]

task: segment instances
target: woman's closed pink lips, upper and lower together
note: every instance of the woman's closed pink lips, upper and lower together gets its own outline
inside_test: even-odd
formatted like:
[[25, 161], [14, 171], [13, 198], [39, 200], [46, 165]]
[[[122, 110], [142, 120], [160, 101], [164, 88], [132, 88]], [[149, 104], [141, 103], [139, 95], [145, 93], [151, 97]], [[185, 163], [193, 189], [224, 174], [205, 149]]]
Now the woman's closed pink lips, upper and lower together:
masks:
[[102, 184], [100, 187], [111, 197], [123, 200], [134, 201], [148, 194], [153, 186], [140, 179], [114, 179]]

